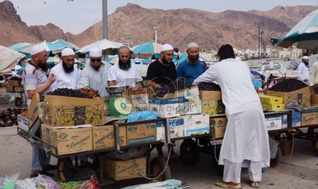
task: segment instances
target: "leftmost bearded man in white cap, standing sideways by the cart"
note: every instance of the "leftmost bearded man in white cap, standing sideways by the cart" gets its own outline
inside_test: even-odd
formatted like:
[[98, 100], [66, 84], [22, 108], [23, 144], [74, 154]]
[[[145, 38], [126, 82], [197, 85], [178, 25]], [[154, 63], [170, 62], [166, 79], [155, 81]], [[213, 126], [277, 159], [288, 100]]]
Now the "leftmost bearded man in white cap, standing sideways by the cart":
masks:
[[[55, 81], [55, 75], [47, 77], [47, 51], [41, 45], [31, 49], [31, 63], [27, 64], [23, 71], [22, 81], [25, 86], [25, 96], [27, 97], [27, 106], [36, 93], [43, 97], [51, 92], [51, 84]], [[39, 147], [32, 147], [32, 163], [30, 177], [37, 177], [39, 174], [53, 177], [52, 173], [46, 171], [53, 170], [56, 166], [50, 165], [51, 155]]]

